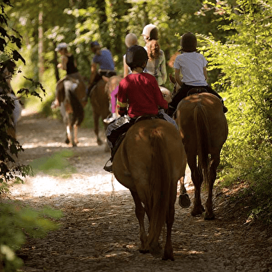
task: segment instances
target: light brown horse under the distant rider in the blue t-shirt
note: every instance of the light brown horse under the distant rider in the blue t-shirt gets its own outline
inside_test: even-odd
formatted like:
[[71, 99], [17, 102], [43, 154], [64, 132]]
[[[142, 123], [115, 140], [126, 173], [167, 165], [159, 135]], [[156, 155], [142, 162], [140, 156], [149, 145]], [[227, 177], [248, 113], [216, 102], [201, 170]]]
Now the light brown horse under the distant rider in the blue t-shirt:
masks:
[[[114, 86], [116, 87], [119, 84], [120, 80], [120, 76], [111, 76], [110, 78], [102, 76], [101, 80], [99, 80], [99, 82], [94, 85], [91, 92], [94, 133], [96, 135], [96, 142], [99, 145], [103, 144], [103, 141], [99, 137], [99, 118], [101, 117], [103, 120], [110, 114], [110, 103], [108, 97], [110, 96], [110, 92], [114, 90]], [[104, 124], [104, 128], [105, 127], [106, 124]]]

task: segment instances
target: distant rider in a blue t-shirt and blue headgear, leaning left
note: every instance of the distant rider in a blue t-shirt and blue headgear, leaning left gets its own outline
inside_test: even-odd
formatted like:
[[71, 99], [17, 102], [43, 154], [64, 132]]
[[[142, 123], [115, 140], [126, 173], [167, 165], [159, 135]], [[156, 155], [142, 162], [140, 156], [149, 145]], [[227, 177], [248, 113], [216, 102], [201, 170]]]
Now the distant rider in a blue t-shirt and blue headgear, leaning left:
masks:
[[[116, 75], [116, 71], [114, 71], [114, 61], [112, 58], [112, 53], [108, 49], [101, 49], [101, 46], [98, 42], [91, 42], [91, 50], [95, 53], [94, 58], [92, 59], [91, 66], [91, 76], [90, 83], [88, 86], [87, 94], [85, 96], [85, 101], [87, 101], [89, 96], [92, 96], [92, 88], [102, 76], [107, 76], [110, 78], [111, 76]], [[97, 71], [97, 65], [99, 65], [99, 69]]]

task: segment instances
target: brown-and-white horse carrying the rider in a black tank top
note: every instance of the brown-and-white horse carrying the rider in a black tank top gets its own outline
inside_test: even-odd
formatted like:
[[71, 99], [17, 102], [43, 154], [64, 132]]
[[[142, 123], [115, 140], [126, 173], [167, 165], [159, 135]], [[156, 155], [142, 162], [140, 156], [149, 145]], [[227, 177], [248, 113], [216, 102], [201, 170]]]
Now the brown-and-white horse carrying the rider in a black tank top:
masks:
[[[84, 119], [83, 102], [85, 97], [85, 83], [80, 74], [75, 73], [59, 80], [56, 86], [56, 101], [60, 104], [60, 113], [65, 123], [67, 144], [78, 144], [78, 127]], [[56, 106], [56, 101], [52, 108]]]

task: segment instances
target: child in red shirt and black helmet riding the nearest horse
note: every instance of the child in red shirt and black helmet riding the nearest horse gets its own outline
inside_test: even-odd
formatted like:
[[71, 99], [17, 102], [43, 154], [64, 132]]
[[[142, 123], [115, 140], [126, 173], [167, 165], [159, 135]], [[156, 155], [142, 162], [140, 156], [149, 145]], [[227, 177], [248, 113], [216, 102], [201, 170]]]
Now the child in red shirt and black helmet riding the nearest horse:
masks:
[[[167, 101], [164, 100], [157, 81], [151, 74], [144, 73], [144, 67], [148, 56], [144, 47], [133, 45], [126, 53], [126, 63], [132, 74], [129, 74], [119, 83], [117, 100], [119, 119], [110, 124], [106, 130], [108, 144], [114, 155], [114, 146], [119, 136], [124, 135], [138, 117], [144, 115], [158, 115], [158, 107], [167, 109]], [[128, 112], [128, 119], [124, 117]], [[119, 141], [120, 142], [120, 141]], [[115, 147], [116, 148], [116, 147]], [[105, 171], [112, 172], [112, 165], [104, 167]]]

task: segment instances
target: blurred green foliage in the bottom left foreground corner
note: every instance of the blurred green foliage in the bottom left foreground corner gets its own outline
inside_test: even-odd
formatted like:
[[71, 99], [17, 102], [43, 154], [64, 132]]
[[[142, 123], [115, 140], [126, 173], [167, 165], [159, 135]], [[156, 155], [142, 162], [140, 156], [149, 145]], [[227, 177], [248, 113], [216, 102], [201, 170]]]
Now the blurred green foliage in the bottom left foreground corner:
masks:
[[43, 237], [49, 230], [56, 230], [58, 224], [49, 219], [59, 219], [62, 213], [44, 207], [36, 212], [21, 205], [0, 205], [0, 270], [13, 272], [19, 269], [23, 262], [15, 255], [25, 242], [26, 235]]

